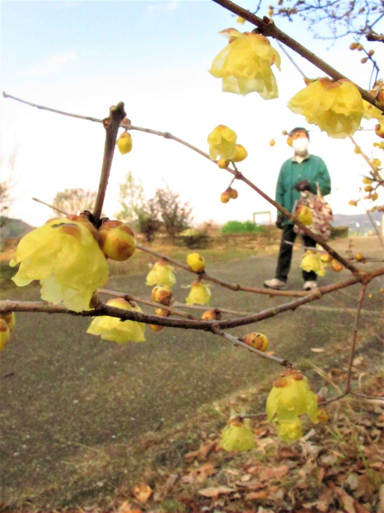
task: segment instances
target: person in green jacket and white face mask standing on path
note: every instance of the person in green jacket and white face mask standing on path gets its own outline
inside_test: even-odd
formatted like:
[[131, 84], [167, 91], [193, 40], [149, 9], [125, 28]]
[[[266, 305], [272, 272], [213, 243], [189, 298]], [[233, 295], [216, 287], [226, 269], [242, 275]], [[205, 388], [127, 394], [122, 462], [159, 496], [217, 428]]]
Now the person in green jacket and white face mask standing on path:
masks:
[[[291, 130], [289, 135], [292, 137], [294, 155], [291, 159], [285, 161], [280, 169], [276, 185], [276, 202], [292, 212], [295, 201], [300, 198], [301, 191], [310, 190], [316, 193], [317, 182], [323, 196], [325, 196], [331, 192], [331, 179], [323, 159], [308, 153], [308, 130], [297, 127]], [[283, 290], [287, 288], [293, 250], [293, 246], [286, 244], [285, 241], [293, 243], [296, 239], [296, 233], [293, 230], [293, 223], [280, 212], [278, 212], [276, 226], [283, 230], [278, 265], [275, 278], [265, 281], [264, 286], [274, 290]], [[303, 239], [305, 246], [316, 247], [316, 242], [308, 235], [303, 235]], [[317, 275], [314, 271], [303, 271], [304, 290], [316, 288], [316, 278]]]

